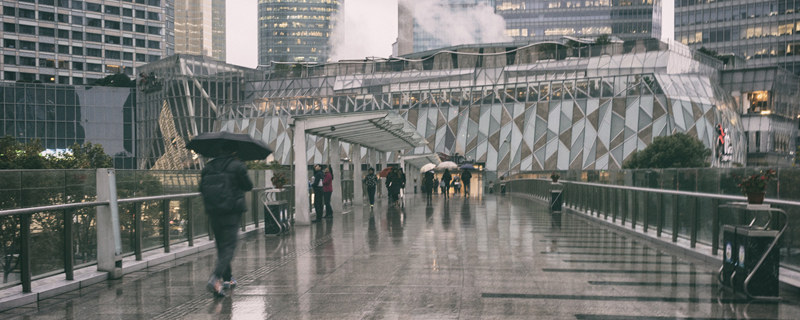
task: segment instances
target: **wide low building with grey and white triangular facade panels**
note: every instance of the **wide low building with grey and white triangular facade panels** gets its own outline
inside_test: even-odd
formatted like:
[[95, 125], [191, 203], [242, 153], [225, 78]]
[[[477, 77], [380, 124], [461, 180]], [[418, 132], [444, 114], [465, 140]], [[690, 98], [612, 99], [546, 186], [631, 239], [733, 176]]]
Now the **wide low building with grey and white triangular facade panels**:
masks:
[[[635, 40], [581, 48], [507, 43], [446, 50], [404, 59], [298, 64], [289, 70], [259, 71], [266, 74], [244, 82], [238, 82], [243, 80], [238, 76], [227, 80], [214, 76], [209, 80], [220, 85], [244, 83], [238, 88], [241, 99], [217, 104], [217, 122], [212, 114], [196, 119], [208, 121], [204, 130], [247, 132], [263, 139], [276, 160], [285, 164], [291, 163], [293, 116], [374, 110], [395, 110], [429, 142], [410, 153], [458, 153], [499, 174], [617, 169], [654, 138], [677, 132], [697, 137], [713, 149], [720, 126], [728, 135], [728, 148], [709, 162], [725, 167], [747, 161], [736, 101], [718, 85], [722, 64], [679, 43]], [[176, 71], [180, 70], [172, 69]], [[176, 92], [172, 90], [168, 92]], [[203, 97], [193, 94], [191, 99]], [[138, 101], [140, 110], [159, 109], [155, 111], [161, 120], [155, 121], [153, 112], [146, 116], [150, 124], [179, 123], [175, 116], [190, 110], [185, 104], [153, 101]], [[164, 113], [167, 109], [170, 114]], [[185, 127], [191, 122], [183, 123]], [[143, 130], [141, 124], [140, 137], [151, 137], [143, 144], [162, 140], [181, 144], [194, 134], [179, 129], [175, 136], [167, 136], [163, 124], [161, 133]], [[309, 163], [327, 161], [325, 139], [306, 138]], [[141, 145], [139, 150], [145, 148], [149, 147]], [[185, 149], [175, 150], [185, 162], [173, 164], [192, 163]], [[180, 150], [184, 154], [178, 154]], [[349, 147], [344, 146], [343, 154], [347, 152]], [[154, 154], [158, 153], [142, 156]]]

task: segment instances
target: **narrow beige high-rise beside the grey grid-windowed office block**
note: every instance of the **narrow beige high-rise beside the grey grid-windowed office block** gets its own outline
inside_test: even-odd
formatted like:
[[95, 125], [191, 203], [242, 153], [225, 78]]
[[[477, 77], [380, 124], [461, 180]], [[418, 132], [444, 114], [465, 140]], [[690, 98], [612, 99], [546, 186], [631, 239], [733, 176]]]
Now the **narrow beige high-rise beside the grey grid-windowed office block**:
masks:
[[225, 0], [175, 0], [175, 53], [225, 61]]

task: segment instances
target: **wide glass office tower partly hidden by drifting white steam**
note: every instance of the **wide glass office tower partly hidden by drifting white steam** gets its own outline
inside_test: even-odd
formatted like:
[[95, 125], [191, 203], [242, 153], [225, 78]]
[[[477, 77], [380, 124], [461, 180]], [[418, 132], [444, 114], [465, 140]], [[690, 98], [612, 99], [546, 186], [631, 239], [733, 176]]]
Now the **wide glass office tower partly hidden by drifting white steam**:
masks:
[[[440, 3], [453, 12], [488, 5], [505, 20], [505, 35], [520, 42], [604, 34], [623, 40], [661, 38], [661, 0], [442, 0]], [[414, 21], [410, 7], [402, 4], [398, 7], [398, 54], [462, 44], [424, 32]]]

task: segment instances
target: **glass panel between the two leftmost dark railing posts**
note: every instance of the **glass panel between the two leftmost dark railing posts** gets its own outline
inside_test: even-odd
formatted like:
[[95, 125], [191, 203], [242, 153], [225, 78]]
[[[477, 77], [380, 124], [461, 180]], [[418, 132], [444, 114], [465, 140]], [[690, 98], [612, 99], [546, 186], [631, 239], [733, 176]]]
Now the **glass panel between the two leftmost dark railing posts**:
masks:
[[31, 276], [64, 270], [64, 215], [42, 212], [31, 216]]

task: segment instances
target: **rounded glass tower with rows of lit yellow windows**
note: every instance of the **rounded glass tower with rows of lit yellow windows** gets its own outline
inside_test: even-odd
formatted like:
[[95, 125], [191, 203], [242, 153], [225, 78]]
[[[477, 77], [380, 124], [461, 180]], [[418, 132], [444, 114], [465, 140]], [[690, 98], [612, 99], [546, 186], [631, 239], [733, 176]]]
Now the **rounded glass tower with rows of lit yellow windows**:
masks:
[[258, 63], [325, 62], [344, 0], [260, 0]]

